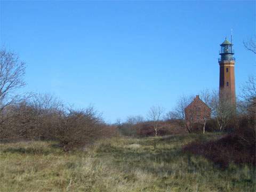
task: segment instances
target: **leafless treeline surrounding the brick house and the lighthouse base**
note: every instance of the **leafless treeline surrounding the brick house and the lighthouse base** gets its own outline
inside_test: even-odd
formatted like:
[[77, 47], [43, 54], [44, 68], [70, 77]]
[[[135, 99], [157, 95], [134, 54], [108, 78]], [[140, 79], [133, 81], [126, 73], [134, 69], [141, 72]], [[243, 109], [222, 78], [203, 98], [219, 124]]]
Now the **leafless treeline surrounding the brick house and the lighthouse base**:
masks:
[[[219, 100], [217, 91], [203, 90], [199, 98], [211, 109], [202, 111], [202, 119], [197, 121], [187, 118], [185, 108], [193, 101], [194, 95], [182, 95], [174, 108], [165, 112], [160, 106], [149, 109], [147, 117], [130, 116], [126, 121], [117, 121], [118, 130], [126, 136], [147, 137], [168, 134], [193, 132], [234, 132], [235, 130], [252, 130], [255, 137], [256, 79], [254, 76], [243, 85], [242, 93], [236, 103], [230, 100]], [[206, 113], [207, 112], [207, 113]], [[190, 111], [190, 115], [197, 113]]]

